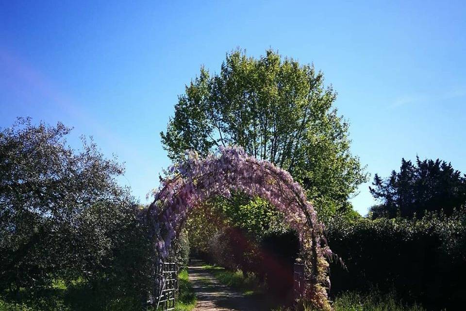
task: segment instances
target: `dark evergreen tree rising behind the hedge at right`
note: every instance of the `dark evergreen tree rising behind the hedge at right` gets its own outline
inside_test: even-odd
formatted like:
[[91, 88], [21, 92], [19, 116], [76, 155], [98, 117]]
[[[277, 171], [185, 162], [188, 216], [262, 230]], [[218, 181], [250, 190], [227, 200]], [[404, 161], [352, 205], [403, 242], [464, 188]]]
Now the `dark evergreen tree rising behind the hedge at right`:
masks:
[[382, 201], [370, 208], [372, 218], [422, 217], [439, 210], [451, 214], [466, 204], [466, 175], [439, 159], [417, 157], [416, 165], [402, 159], [399, 173], [393, 171], [386, 179], [376, 174], [372, 185], [370, 192]]

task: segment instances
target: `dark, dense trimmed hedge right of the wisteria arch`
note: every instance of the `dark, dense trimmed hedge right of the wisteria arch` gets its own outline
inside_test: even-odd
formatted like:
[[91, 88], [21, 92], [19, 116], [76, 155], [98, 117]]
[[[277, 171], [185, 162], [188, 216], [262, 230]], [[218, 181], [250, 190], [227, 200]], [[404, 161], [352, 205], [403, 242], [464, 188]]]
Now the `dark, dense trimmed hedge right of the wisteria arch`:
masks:
[[419, 220], [335, 218], [327, 232], [347, 268], [331, 265], [333, 294], [375, 285], [433, 309], [466, 304], [464, 212], [428, 213]]

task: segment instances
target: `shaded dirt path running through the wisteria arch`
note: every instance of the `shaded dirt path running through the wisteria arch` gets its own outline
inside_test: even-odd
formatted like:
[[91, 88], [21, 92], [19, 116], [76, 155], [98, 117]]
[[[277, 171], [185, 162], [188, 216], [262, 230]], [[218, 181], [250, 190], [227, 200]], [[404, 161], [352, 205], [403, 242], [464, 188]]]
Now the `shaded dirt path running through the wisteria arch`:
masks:
[[202, 268], [204, 262], [191, 260], [188, 267], [189, 281], [198, 297], [194, 311], [266, 311], [265, 298], [245, 296], [228, 286], [220, 284], [208, 269]]

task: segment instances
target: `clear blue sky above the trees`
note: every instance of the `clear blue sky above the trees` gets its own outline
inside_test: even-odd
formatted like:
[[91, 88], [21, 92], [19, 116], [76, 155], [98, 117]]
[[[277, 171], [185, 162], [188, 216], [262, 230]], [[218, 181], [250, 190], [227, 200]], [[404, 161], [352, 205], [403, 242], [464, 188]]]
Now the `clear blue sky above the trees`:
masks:
[[31, 116], [74, 127], [73, 146], [92, 135], [141, 203], [169, 165], [159, 132], [177, 96], [236, 47], [321, 69], [372, 176], [416, 155], [466, 173], [465, 1], [43, 2], [0, 4], [0, 126]]

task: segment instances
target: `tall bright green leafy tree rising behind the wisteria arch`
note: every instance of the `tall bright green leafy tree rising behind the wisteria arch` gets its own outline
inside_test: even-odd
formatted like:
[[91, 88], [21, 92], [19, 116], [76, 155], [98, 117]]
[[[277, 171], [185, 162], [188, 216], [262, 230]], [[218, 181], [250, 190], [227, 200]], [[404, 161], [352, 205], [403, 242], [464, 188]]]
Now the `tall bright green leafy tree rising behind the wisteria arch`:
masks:
[[200, 69], [160, 134], [173, 160], [187, 149], [205, 155], [239, 145], [289, 171], [317, 208], [346, 209], [366, 174], [350, 153], [348, 123], [335, 100], [314, 66], [271, 50], [259, 59], [237, 50], [226, 55], [220, 73]]

